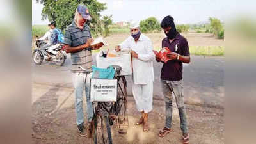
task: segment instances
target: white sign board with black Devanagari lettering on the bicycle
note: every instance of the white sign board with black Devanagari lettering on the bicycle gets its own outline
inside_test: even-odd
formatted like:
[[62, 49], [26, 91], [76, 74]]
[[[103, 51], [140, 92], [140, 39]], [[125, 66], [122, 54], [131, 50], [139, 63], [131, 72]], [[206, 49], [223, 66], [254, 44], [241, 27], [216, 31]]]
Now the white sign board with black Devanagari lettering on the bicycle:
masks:
[[116, 102], [117, 79], [90, 79], [91, 102]]

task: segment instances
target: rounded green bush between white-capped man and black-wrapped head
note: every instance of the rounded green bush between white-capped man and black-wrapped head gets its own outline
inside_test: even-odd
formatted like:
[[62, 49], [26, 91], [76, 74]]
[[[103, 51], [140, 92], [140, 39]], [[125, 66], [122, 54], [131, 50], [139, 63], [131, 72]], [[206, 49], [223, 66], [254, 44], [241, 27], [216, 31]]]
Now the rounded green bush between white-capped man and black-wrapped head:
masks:
[[149, 17], [148, 19], [140, 21], [140, 29], [143, 33], [150, 33], [154, 31], [161, 31], [161, 26], [155, 17]]

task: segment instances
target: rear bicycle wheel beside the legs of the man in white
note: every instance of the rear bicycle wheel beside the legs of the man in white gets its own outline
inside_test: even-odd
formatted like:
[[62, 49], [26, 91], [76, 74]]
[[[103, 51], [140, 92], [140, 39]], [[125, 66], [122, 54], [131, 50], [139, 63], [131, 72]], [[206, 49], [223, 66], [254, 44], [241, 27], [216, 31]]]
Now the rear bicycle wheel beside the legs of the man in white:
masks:
[[118, 123], [123, 124], [126, 118], [127, 109], [127, 90], [126, 90], [126, 79], [124, 76], [118, 77], [118, 88], [117, 88], [117, 117]]

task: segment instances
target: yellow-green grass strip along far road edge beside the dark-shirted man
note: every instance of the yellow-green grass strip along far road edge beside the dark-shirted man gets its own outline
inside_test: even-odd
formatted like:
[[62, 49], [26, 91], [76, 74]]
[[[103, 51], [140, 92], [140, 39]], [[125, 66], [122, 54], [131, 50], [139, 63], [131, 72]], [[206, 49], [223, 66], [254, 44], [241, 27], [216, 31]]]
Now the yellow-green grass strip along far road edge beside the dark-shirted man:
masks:
[[[160, 51], [160, 47], [154, 50]], [[224, 56], [224, 47], [222, 46], [190, 46], [189, 52], [195, 56]]]

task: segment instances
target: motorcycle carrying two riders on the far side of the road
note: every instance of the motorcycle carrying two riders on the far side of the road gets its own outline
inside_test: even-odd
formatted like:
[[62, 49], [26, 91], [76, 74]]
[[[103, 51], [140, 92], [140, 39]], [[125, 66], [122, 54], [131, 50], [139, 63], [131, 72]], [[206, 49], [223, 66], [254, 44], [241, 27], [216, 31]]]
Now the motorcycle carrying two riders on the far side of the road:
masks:
[[52, 54], [48, 52], [48, 47], [46, 49], [41, 49], [43, 45], [47, 44], [42, 40], [36, 40], [35, 45], [36, 49], [33, 51], [32, 58], [36, 65], [41, 65], [43, 60], [52, 61], [58, 66], [62, 66], [65, 63], [65, 59], [67, 58], [67, 54], [64, 51], [64, 45], [60, 44], [58, 47], [54, 49], [58, 54]]

